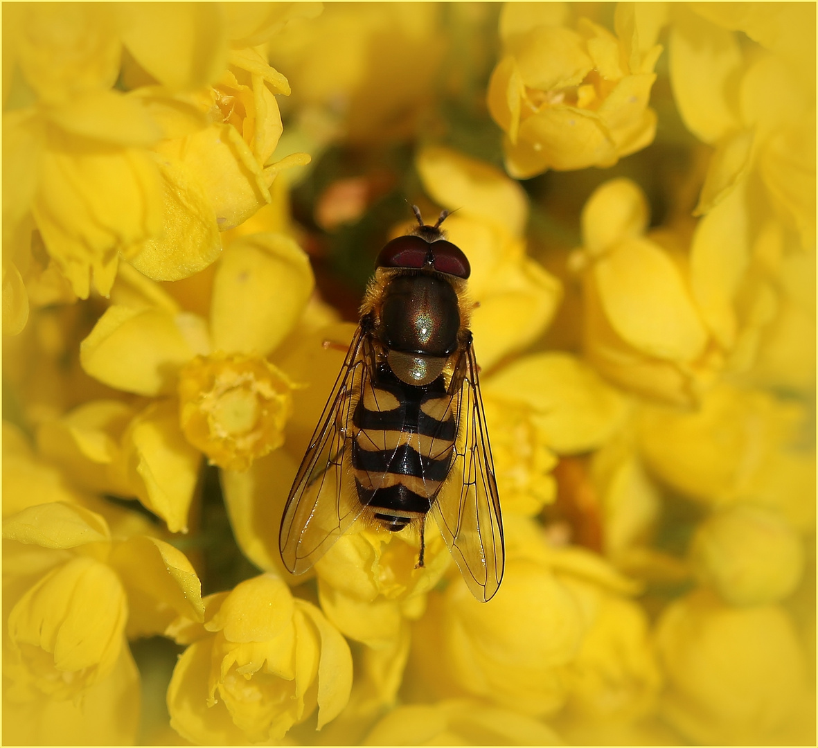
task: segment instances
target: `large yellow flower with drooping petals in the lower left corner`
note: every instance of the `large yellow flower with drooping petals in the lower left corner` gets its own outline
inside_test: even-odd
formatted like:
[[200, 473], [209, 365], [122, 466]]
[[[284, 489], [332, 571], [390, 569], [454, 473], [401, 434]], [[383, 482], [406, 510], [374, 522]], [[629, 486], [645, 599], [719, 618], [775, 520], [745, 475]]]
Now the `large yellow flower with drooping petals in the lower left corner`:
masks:
[[[113, 689], [124, 699], [124, 722], [97, 730], [133, 731], [138, 675], [126, 637], [163, 633], [178, 615], [201, 618], [200, 582], [187, 558], [155, 538], [113, 537], [101, 515], [55, 502], [3, 520], [3, 565], [7, 703], [22, 705], [23, 715], [62, 710], [78, 735], [92, 735], [96, 718], [77, 700], [88, 693], [105, 704], [100, 689]], [[73, 710], [59, 705], [72, 699]], [[16, 734], [32, 730], [15, 722]]]

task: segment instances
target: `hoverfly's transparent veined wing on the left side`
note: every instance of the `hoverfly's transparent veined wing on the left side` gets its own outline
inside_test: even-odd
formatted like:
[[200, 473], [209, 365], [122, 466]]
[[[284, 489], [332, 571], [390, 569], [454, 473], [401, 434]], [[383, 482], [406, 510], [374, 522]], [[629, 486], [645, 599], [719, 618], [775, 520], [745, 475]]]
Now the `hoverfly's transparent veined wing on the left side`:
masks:
[[281, 560], [293, 574], [308, 570], [362, 511], [348, 469], [348, 425], [370, 379], [370, 354], [369, 336], [358, 327], [290, 489], [278, 544]]

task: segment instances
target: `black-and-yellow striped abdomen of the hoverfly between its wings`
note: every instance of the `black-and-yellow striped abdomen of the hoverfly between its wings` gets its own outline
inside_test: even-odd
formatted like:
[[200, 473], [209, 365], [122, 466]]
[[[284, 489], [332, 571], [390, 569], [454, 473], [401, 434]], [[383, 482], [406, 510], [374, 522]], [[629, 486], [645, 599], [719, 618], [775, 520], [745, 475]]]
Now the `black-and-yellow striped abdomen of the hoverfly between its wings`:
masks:
[[402, 529], [429, 511], [452, 463], [452, 399], [442, 379], [435, 384], [373, 382], [355, 408], [352, 464], [358, 498], [388, 529]]

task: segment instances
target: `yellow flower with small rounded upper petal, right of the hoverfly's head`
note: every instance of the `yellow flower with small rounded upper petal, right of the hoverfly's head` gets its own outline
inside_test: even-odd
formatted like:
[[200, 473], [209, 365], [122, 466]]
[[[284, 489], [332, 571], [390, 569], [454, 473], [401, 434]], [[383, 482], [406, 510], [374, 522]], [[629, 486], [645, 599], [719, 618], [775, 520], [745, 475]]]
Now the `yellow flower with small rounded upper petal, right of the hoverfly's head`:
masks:
[[719, 358], [685, 278], [684, 260], [644, 232], [645, 196], [628, 179], [598, 187], [582, 210], [587, 357], [617, 384], [690, 403]]

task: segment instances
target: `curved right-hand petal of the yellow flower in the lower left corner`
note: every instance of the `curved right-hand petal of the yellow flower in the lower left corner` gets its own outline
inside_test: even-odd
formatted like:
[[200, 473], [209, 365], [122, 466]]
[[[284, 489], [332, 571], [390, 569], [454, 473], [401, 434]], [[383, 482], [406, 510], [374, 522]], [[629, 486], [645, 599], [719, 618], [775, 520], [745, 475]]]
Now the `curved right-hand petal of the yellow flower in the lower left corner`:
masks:
[[157, 538], [116, 543], [109, 561], [128, 593], [128, 638], [164, 633], [178, 616], [202, 621], [201, 582], [187, 556]]

